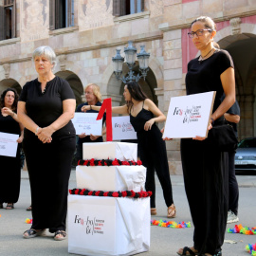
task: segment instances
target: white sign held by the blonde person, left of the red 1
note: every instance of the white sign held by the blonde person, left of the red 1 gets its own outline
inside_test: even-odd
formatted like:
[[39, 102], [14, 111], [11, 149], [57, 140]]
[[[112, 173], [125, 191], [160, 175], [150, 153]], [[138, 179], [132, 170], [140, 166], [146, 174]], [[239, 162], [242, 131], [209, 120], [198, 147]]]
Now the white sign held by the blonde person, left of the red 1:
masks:
[[102, 119], [96, 120], [98, 113], [75, 113], [72, 122], [76, 129], [76, 135], [102, 136]]

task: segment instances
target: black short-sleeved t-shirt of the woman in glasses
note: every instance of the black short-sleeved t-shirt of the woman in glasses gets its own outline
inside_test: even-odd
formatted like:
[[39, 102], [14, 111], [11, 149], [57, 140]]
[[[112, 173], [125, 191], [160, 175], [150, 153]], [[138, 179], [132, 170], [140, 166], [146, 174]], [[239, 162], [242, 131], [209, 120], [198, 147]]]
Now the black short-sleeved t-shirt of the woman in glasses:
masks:
[[204, 93], [216, 91], [215, 101], [212, 112], [221, 104], [223, 96], [223, 87], [220, 75], [230, 66], [234, 67], [229, 52], [217, 49], [210, 58], [199, 62], [198, 58], [193, 59], [188, 64], [188, 73], [186, 76], [187, 94]]

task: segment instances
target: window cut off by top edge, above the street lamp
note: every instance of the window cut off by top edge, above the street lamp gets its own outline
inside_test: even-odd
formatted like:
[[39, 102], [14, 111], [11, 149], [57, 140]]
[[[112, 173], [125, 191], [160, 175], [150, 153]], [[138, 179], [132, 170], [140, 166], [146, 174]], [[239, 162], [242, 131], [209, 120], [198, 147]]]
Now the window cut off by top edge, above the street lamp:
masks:
[[144, 11], [144, 0], [114, 0], [113, 15], [116, 17]]

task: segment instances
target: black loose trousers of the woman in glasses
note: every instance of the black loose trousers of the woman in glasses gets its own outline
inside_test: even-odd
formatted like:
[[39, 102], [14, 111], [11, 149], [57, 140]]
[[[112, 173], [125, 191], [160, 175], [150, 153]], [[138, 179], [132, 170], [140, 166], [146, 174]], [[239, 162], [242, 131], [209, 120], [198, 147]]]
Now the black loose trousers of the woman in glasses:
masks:
[[185, 190], [194, 225], [193, 247], [199, 254], [221, 250], [229, 205], [228, 153], [206, 141], [181, 139]]

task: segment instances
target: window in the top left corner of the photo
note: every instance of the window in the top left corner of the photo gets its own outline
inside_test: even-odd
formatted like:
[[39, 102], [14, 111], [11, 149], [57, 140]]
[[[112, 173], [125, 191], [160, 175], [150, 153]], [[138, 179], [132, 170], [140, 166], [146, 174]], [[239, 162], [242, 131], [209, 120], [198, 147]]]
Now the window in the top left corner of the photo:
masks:
[[16, 1], [4, 0], [0, 5], [0, 40], [16, 37]]

